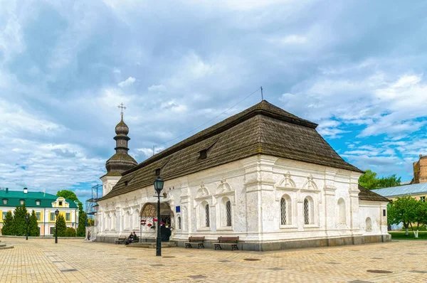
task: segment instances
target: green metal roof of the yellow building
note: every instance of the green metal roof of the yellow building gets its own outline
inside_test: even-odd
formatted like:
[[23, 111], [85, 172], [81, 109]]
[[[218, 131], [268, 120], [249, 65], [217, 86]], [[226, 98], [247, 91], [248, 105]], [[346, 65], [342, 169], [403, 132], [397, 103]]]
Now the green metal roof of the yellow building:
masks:
[[[24, 200], [28, 208], [51, 208], [52, 203], [56, 201], [58, 196], [51, 193], [43, 192], [30, 192], [23, 193], [23, 191], [0, 191], [0, 207], [2, 206], [19, 206], [20, 201]], [[3, 200], [7, 199], [7, 204], [3, 204]], [[40, 201], [40, 205], [36, 205], [36, 201]], [[67, 203], [70, 203], [69, 208], [78, 208], [74, 201], [65, 198]]]

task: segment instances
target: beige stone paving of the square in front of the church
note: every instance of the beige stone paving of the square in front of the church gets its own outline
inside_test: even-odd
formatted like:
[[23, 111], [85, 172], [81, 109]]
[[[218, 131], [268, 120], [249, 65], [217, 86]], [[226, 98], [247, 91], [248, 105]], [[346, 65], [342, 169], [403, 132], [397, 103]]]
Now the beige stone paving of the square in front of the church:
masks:
[[[0, 282], [427, 282], [427, 241], [275, 252], [0, 238]], [[388, 272], [373, 273], [368, 270]]]

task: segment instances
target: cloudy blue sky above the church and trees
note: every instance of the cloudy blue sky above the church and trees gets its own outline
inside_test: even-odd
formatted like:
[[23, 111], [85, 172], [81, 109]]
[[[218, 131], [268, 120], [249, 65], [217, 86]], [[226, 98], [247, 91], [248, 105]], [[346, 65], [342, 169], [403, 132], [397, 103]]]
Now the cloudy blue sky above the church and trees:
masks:
[[259, 102], [255, 92], [221, 114], [261, 85], [347, 161], [410, 180], [427, 154], [425, 11], [415, 0], [0, 0], [0, 186], [85, 200], [114, 153], [121, 102], [141, 162]]

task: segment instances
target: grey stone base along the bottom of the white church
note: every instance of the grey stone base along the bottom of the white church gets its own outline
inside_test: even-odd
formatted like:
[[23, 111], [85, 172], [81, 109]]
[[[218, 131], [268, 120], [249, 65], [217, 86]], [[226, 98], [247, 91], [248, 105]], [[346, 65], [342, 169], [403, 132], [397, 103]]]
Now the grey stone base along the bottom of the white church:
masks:
[[[97, 236], [97, 242], [114, 243], [117, 237], [112, 236]], [[142, 238], [140, 242], [155, 242], [154, 238]], [[290, 250], [306, 247], [335, 247], [339, 245], [363, 245], [374, 242], [390, 242], [391, 235], [364, 235], [352, 237], [333, 237], [327, 239], [312, 239], [312, 240], [283, 240], [274, 242], [245, 242], [238, 243], [239, 250], [251, 250], [257, 252], [267, 252], [271, 250]], [[171, 240], [177, 247], [185, 247], [186, 240]], [[205, 248], [214, 248], [214, 242], [206, 240]], [[230, 246], [223, 247], [223, 250], [231, 250]]]

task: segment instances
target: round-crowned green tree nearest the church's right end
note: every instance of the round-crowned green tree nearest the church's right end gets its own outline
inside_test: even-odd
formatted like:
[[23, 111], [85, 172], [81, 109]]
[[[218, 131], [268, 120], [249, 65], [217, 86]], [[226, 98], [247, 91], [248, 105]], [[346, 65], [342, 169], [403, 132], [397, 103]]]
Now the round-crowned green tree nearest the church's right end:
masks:
[[408, 235], [409, 225], [411, 225], [413, 230], [412, 223], [416, 223], [418, 220], [418, 203], [420, 202], [411, 196], [396, 198], [395, 201], [389, 204], [387, 220], [390, 224], [404, 223], [404, 228], [406, 229], [405, 235]]

